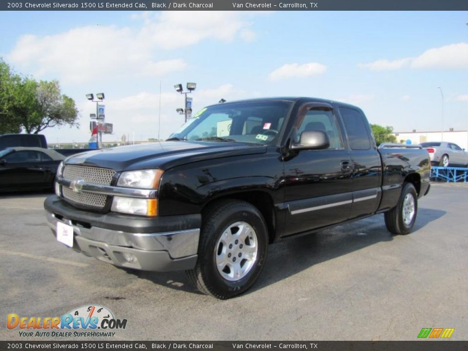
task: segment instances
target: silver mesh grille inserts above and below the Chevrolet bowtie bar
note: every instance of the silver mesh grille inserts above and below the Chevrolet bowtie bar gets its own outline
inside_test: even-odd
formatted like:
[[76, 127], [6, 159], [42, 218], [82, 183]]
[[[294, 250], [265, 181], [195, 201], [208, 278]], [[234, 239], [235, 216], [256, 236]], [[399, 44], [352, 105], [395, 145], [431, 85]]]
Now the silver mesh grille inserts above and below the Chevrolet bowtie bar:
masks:
[[[115, 171], [108, 168], [87, 167], [67, 165], [63, 169], [62, 177], [67, 180], [78, 180], [102, 185], [111, 185]], [[62, 194], [65, 200], [97, 209], [102, 209], [106, 205], [107, 195], [81, 192], [75, 193], [66, 186], [62, 187]]]

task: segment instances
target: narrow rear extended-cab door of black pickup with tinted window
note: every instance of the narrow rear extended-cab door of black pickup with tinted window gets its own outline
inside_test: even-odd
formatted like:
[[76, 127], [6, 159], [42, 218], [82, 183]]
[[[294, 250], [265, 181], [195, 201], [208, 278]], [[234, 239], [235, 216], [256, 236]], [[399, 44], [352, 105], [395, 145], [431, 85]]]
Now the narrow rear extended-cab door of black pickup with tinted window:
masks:
[[364, 113], [349, 106], [340, 106], [352, 161], [351, 218], [377, 211], [382, 192], [382, 161]]

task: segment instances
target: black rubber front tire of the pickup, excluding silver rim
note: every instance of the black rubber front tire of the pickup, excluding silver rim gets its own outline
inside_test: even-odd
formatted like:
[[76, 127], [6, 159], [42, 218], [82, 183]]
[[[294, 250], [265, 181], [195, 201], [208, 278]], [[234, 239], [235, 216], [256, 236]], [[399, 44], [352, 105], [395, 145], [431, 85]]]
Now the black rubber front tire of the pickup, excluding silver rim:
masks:
[[[257, 260], [250, 272], [240, 280], [229, 281], [224, 279], [216, 268], [215, 247], [224, 230], [235, 222], [246, 222], [252, 226], [257, 236], [258, 252]], [[253, 209], [239, 204], [239, 206], [230, 208], [229, 211], [216, 217], [214, 225], [205, 229], [208, 232], [204, 235], [208, 236], [203, 254], [201, 257], [199, 255], [199, 259], [201, 258], [201, 274], [207, 288], [221, 298], [229, 298], [245, 292], [254, 284], [261, 273], [266, 259], [268, 232], [263, 218]]]

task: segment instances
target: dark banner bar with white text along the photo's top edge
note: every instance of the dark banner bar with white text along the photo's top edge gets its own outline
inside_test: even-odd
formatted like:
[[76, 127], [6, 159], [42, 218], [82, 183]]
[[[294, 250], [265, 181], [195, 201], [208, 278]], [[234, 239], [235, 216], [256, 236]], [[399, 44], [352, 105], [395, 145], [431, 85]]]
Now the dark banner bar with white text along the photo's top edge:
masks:
[[454, 11], [467, 0], [12, 0], [2, 11]]

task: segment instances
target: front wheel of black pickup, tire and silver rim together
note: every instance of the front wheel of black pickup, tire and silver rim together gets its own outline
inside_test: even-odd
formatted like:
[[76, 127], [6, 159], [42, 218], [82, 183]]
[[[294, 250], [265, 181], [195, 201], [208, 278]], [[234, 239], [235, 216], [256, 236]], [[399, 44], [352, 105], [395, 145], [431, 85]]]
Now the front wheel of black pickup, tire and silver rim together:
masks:
[[267, 226], [254, 206], [238, 200], [217, 203], [203, 218], [198, 260], [187, 276], [203, 293], [234, 297], [260, 275], [267, 247]]

